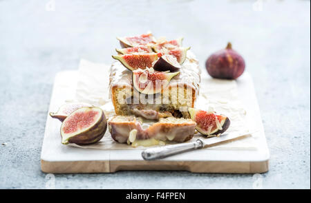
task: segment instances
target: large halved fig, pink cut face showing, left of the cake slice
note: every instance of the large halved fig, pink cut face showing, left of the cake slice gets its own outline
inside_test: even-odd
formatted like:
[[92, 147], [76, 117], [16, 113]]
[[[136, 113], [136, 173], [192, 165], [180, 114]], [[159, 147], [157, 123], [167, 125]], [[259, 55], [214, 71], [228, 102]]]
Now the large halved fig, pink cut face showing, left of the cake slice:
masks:
[[106, 116], [99, 107], [82, 107], [62, 123], [62, 144], [88, 145], [98, 142], [107, 129]]

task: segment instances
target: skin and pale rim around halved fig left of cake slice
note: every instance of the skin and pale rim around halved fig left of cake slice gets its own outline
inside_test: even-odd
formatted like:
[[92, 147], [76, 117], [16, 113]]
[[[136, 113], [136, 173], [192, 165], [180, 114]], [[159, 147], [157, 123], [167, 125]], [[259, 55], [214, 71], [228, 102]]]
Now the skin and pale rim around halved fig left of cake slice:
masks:
[[[97, 109], [98, 110], [100, 108], [99, 107], [82, 107], [80, 109], [77, 109], [76, 111], [81, 111], [84, 109]], [[76, 111], [73, 111], [73, 113], [70, 115], [75, 114]], [[104, 114], [104, 111], [102, 111], [102, 109], [100, 109], [100, 113], [102, 114], [102, 116], [101, 116], [100, 120], [98, 120], [95, 123], [95, 125], [93, 125], [92, 127], [88, 128], [88, 129], [85, 129], [84, 131], [82, 131], [80, 133], [77, 133], [77, 135], [75, 135], [71, 138], [68, 138], [68, 140], [66, 142], [62, 141], [62, 144], [67, 145], [68, 143], [74, 143], [77, 145], [90, 145], [90, 144], [93, 144], [95, 142], [100, 141], [102, 139], [102, 137], [104, 136], [104, 134], [106, 133], [106, 129], [107, 129], [107, 120], [106, 120], [106, 116]], [[66, 119], [62, 123], [62, 127], [63, 127], [64, 123], [66, 123]], [[62, 127], [61, 127], [61, 135], [63, 138], [64, 135], [62, 132]]]

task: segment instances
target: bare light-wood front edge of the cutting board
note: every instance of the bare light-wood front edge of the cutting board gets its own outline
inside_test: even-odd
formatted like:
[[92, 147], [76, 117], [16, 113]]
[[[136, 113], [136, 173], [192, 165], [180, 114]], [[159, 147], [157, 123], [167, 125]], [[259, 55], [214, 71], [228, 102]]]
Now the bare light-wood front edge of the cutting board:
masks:
[[137, 161], [109, 160], [47, 162], [41, 160], [45, 173], [115, 173], [116, 171], [189, 171], [192, 173], [265, 173], [269, 161], [221, 162], [221, 161]]

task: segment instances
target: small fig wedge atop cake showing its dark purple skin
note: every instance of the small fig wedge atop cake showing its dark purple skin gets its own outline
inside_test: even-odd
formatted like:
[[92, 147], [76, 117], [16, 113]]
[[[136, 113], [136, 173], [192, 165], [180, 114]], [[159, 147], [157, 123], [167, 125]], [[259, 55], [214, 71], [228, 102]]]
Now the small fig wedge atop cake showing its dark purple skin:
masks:
[[159, 60], [153, 65], [153, 69], [157, 71], [170, 71], [176, 72], [180, 70], [180, 64], [177, 59], [171, 55], [163, 55], [159, 58]]

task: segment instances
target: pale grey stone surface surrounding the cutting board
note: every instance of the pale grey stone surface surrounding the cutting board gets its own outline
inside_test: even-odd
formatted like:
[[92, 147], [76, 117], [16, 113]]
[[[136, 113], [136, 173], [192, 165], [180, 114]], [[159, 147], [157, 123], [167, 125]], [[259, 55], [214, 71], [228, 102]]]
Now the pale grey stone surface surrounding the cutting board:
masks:
[[[49, 6], [46, 9], [46, 3]], [[310, 1], [0, 1], [0, 188], [42, 189], [40, 151], [55, 74], [111, 63], [115, 36], [185, 37], [204, 72], [231, 41], [254, 77], [270, 171], [55, 175], [55, 187], [310, 189]], [[53, 9], [55, 3], [55, 10]], [[262, 7], [261, 7], [262, 6]], [[53, 11], [54, 10], [54, 11]]]

